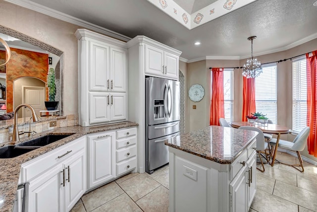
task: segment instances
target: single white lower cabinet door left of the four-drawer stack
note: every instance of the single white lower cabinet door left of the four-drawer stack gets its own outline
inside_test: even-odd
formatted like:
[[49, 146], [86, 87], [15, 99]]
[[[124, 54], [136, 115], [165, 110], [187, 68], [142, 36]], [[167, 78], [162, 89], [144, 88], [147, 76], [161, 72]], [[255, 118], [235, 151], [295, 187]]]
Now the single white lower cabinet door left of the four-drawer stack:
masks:
[[88, 136], [89, 189], [115, 177], [115, 132]]

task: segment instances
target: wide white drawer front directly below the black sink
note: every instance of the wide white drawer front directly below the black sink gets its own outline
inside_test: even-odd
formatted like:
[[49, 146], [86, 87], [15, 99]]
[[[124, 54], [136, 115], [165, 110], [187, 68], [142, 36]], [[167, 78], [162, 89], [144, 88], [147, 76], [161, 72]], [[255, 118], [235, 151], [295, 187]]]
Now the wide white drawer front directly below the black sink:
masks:
[[23, 181], [29, 181], [60, 161], [69, 158], [82, 149], [85, 149], [85, 145], [86, 136], [83, 136], [42, 156], [39, 156], [36, 159], [32, 159], [25, 164], [22, 164], [21, 172]]

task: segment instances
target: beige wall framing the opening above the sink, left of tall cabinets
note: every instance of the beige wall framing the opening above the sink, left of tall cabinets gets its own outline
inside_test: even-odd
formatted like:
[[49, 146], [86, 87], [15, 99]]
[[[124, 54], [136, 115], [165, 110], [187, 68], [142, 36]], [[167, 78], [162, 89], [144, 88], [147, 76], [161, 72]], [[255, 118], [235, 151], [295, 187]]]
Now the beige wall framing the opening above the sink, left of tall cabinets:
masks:
[[64, 115], [78, 114], [78, 53], [74, 33], [76, 29], [82, 27], [3, 0], [0, 0], [0, 4], [0, 25], [21, 32], [63, 52], [62, 111]]

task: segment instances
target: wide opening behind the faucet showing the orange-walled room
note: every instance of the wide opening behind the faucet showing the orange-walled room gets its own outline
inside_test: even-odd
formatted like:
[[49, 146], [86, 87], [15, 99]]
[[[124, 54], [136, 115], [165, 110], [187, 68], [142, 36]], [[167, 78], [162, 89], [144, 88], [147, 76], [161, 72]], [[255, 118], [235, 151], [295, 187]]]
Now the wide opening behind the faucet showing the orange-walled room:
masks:
[[[40, 110], [46, 110], [45, 101], [58, 102], [57, 109], [61, 114], [62, 52], [3, 26], [0, 26], [0, 38], [11, 50], [9, 62], [0, 67], [0, 115], [14, 111], [23, 103], [32, 105], [40, 115]], [[0, 63], [5, 59], [4, 46], [0, 45]], [[48, 74], [52, 68], [55, 75], [54, 100], [49, 98], [48, 87]], [[21, 111], [19, 117], [30, 116], [28, 108]]]

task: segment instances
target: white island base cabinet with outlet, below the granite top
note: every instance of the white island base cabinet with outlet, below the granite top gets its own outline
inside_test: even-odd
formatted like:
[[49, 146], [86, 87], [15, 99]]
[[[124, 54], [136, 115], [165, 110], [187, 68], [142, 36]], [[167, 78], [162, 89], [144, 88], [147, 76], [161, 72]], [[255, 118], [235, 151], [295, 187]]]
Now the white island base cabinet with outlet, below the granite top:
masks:
[[[253, 141], [250, 145], [254, 145]], [[220, 164], [169, 150], [169, 211], [248, 212], [256, 194], [256, 151]]]

